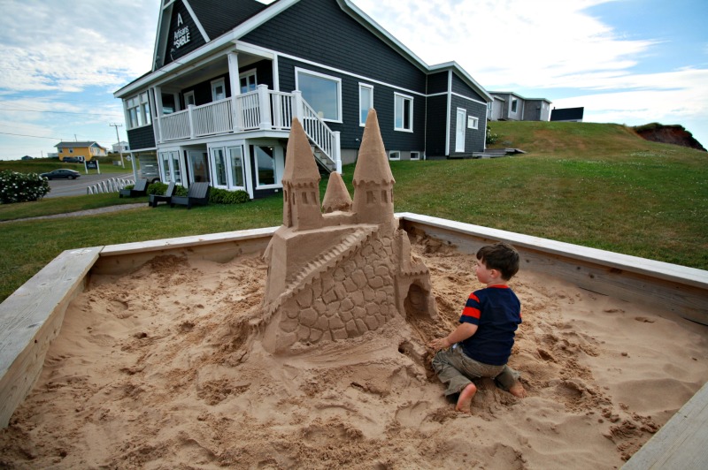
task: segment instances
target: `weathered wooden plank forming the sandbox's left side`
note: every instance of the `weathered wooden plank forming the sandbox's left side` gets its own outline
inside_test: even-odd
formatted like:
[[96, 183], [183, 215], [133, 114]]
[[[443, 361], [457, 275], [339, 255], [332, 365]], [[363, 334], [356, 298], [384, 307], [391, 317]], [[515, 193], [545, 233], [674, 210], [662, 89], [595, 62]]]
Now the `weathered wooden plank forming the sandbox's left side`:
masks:
[[66, 250], [0, 304], [0, 427], [32, 390], [101, 246]]

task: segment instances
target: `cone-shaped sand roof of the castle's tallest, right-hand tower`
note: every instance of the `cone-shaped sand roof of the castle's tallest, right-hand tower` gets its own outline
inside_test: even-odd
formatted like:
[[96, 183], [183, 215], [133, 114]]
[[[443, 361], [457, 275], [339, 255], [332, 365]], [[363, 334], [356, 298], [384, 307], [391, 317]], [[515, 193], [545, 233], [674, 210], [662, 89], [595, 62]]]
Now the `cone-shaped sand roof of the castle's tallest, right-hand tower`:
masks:
[[383, 147], [379, 118], [373, 109], [369, 110], [369, 115], [366, 117], [357, 168], [354, 170], [354, 184], [358, 183], [396, 183], [391, 174], [386, 148]]

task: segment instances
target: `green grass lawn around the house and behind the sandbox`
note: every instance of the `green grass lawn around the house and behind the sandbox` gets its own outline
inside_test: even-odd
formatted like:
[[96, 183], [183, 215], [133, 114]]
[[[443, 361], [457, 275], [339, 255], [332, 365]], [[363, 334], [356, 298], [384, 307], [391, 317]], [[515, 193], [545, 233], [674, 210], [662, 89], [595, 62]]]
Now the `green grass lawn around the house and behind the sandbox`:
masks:
[[[391, 162], [396, 211], [708, 269], [708, 154], [622, 125], [492, 123], [526, 155]], [[353, 165], [342, 178], [353, 193]], [[327, 181], [320, 189], [324, 191]], [[87, 195], [0, 206], [0, 220], [147, 198]], [[279, 225], [282, 197], [235, 206], [130, 209], [0, 224], [0, 299], [63, 250]]]

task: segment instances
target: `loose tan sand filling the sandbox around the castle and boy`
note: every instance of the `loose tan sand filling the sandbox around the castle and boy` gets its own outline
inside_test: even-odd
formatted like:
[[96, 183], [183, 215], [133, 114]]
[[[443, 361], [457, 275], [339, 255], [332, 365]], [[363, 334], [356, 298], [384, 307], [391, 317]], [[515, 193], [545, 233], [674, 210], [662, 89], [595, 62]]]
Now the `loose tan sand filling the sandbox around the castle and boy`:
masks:
[[456, 413], [425, 345], [481, 284], [471, 256], [412, 242], [437, 322], [287, 357], [249, 328], [258, 257], [163, 256], [91, 277], [0, 431], [0, 467], [613, 468], [708, 380], [707, 327], [521, 271], [510, 364], [528, 398], [482, 380], [472, 413]]

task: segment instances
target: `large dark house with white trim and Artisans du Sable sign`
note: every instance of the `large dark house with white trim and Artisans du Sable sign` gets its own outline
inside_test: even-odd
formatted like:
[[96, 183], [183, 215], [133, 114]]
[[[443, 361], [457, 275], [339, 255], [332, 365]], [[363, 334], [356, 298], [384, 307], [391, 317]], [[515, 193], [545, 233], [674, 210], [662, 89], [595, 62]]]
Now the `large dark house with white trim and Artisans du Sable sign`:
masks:
[[150, 72], [115, 92], [130, 153], [163, 181], [279, 192], [298, 117], [321, 168], [357, 158], [377, 111], [391, 160], [484, 149], [491, 96], [427, 65], [349, 0], [159, 0]]

